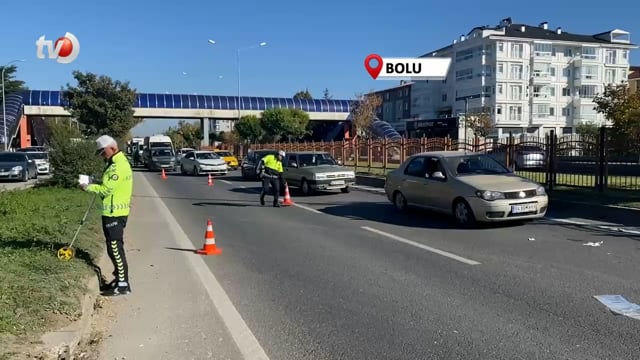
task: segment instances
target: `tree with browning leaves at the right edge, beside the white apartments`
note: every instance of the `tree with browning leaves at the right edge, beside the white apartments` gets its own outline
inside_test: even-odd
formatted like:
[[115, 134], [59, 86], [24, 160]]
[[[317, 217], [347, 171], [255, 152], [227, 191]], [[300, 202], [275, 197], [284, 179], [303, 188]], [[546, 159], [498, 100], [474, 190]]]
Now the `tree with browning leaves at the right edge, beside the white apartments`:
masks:
[[[595, 110], [612, 123], [612, 132], [619, 140], [636, 140], [638, 124], [635, 114], [640, 110], [640, 92], [630, 93], [628, 84], [607, 85], [593, 99]], [[633, 139], [632, 139], [633, 138]]]

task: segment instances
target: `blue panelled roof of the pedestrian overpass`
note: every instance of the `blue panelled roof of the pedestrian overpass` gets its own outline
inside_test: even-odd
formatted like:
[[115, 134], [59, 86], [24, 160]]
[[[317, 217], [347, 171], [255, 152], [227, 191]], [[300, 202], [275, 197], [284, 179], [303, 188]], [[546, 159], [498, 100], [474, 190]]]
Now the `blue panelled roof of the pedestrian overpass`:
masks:
[[[22, 94], [27, 106], [65, 106], [59, 90], [29, 90]], [[263, 111], [273, 108], [300, 109], [306, 112], [348, 113], [352, 100], [301, 100], [293, 98], [241, 97], [240, 110]], [[135, 108], [238, 110], [237, 96], [136, 94]]]

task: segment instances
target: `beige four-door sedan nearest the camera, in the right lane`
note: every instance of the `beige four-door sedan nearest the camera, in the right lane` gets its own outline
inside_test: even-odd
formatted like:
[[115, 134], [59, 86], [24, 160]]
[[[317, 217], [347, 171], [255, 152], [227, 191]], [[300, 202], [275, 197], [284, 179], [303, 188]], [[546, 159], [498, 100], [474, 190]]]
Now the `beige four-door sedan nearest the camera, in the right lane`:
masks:
[[398, 210], [416, 206], [452, 214], [465, 227], [540, 219], [549, 204], [540, 184], [515, 175], [491, 156], [462, 151], [413, 155], [387, 175], [384, 189]]

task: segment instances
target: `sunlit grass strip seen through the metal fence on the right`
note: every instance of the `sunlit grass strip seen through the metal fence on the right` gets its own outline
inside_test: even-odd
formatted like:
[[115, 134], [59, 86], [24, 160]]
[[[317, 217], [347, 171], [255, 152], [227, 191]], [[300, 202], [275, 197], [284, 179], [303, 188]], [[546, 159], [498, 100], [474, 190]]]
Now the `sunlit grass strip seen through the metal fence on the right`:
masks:
[[[388, 164], [386, 169], [382, 167], [382, 163], [372, 163], [369, 167], [366, 162], [363, 162], [355, 167], [353, 162], [346, 162], [345, 166], [354, 168], [359, 175], [384, 176], [387, 172], [398, 168], [399, 164]], [[516, 174], [541, 184], [546, 182], [544, 172], [516, 171]], [[594, 175], [557, 173], [555, 185], [549, 192], [549, 196], [552, 199], [640, 208], [640, 178], [608, 176], [607, 184], [607, 191], [599, 193], [594, 190]]]

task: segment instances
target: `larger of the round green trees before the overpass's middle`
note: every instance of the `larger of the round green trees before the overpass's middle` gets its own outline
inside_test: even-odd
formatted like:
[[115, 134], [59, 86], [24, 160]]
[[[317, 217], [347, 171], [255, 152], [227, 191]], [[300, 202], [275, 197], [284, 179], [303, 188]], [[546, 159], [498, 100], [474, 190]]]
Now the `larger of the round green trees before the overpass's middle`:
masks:
[[274, 142], [304, 136], [308, 124], [309, 115], [299, 109], [267, 109], [260, 119], [265, 135]]

